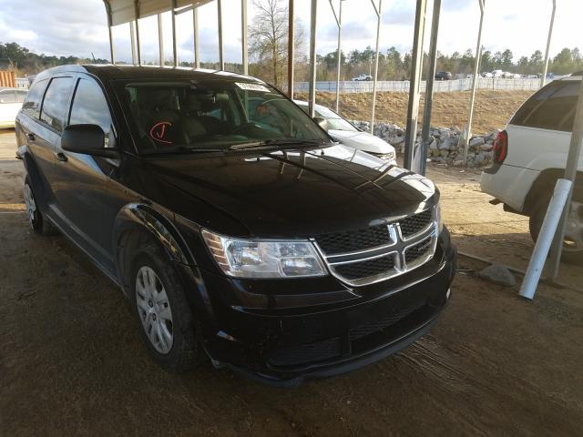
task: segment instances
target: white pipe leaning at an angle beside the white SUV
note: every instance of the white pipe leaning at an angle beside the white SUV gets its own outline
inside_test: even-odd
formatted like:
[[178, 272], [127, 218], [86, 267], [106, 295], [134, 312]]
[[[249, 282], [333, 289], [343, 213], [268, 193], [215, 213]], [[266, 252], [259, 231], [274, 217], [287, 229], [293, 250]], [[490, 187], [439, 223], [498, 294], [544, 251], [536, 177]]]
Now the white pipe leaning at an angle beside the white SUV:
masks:
[[543, 226], [538, 234], [537, 244], [532, 252], [532, 258], [528, 263], [527, 273], [525, 279], [520, 287], [520, 296], [527, 299], [535, 297], [538, 280], [545, 267], [548, 250], [553, 242], [553, 237], [557, 231], [558, 220], [561, 218], [561, 213], [567, 203], [568, 194], [573, 183], [568, 179], [558, 179], [555, 193], [548, 205], [547, 214], [543, 220]]

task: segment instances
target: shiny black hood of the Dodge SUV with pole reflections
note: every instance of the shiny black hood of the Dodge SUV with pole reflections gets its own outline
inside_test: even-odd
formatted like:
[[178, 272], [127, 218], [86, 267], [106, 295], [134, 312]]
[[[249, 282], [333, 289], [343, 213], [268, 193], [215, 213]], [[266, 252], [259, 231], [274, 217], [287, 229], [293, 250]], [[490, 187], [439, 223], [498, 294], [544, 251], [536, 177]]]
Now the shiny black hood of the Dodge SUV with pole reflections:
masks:
[[150, 201], [230, 236], [307, 238], [410, 215], [434, 184], [353, 148], [142, 159]]

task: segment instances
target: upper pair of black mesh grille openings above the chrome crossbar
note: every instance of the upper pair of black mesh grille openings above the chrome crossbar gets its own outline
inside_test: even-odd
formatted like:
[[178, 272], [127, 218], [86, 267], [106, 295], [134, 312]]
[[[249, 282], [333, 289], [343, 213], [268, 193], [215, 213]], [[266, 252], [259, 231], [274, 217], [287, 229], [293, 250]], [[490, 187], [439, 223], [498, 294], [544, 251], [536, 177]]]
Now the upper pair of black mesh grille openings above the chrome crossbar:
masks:
[[[427, 209], [400, 220], [402, 235], [408, 238], [422, 231], [429, 226], [431, 219], [432, 209]], [[320, 234], [316, 236], [316, 241], [326, 255], [372, 249], [392, 242], [387, 229], [388, 225], [389, 223], [385, 223], [363, 229]]]

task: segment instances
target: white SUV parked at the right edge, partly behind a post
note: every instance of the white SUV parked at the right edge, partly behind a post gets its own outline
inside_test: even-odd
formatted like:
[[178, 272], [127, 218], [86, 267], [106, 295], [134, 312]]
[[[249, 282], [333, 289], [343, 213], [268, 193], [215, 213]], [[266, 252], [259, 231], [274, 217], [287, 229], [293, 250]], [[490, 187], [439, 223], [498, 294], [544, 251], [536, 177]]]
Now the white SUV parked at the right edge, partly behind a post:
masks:
[[[482, 191], [506, 211], [530, 218], [537, 239], [557, 178], [567, 164], [578, 90], [583, 72], [554, 80], [517, 110], [499, 133], [493, 164], [482, 173]], [[583, 265], [583, 156], [573, 191], [563, 260]]]

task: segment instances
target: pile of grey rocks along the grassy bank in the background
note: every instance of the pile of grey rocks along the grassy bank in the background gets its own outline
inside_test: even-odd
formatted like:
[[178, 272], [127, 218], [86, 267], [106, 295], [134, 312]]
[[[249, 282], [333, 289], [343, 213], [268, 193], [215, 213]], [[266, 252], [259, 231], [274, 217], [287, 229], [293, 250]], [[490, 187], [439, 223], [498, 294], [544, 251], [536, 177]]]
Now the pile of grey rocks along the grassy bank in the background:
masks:
[[[364, 131], [368, 131], [370, 126], [366, 121], [353, 121], [353, 124]], [[404, 128], [391, 123], [377, 123], [374, 125], [374, 135], [393, 145], [397, 153], [404, 152]], [[462, 135], [459, 127], [432, 127], [429, 135], [427, 158], [439, 164], [464, 167], [464, 150], [457, 147]], [[495, 130], [470, 138], [467, 167], [486, 167], [492, 163], [492, 148], [497, 135]], [[417, 129], [416, 142], [417, 145], [421, 143], [421, 127]]]

